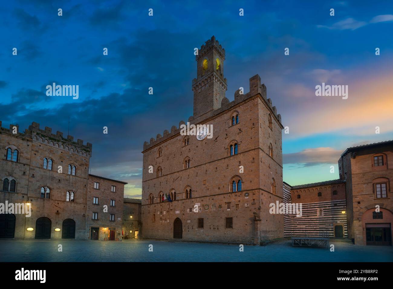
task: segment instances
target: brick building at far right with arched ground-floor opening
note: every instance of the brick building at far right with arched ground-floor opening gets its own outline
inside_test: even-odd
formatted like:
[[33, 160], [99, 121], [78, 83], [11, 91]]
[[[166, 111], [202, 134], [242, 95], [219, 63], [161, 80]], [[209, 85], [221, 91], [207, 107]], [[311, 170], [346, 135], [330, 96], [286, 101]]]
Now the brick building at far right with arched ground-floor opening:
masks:
[[[348, 234], [355, 244], [367, 245], [366, 232], [370, 228], [389, 226], [390, 240], [393, 238], [392, 162], [393, 141], [350, 147], [338, 161], [340, 178], [346, 180]], [[376, 206], [382, 219], [373, 218]]]

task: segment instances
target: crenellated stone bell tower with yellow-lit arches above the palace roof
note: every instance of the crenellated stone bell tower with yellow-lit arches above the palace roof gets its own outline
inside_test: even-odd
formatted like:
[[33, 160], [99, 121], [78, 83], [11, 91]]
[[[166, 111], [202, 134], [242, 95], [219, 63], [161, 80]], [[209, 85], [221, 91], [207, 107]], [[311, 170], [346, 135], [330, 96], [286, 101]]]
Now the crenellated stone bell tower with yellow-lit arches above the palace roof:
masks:
[[193, 79], [194, 118], [221, 107], [227, 90], [224, 78], [225, 49], [214, 36], [196, 55], [196, 78]]

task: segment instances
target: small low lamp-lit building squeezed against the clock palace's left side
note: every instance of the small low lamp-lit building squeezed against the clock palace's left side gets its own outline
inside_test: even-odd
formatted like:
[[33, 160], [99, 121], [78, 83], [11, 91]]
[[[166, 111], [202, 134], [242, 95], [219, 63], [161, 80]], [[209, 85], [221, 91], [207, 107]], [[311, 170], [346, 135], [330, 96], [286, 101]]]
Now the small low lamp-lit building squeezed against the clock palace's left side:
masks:
[[123, 239], [139, 239], [141, 233], [140, 199], [124, 198], [123, 204]]

